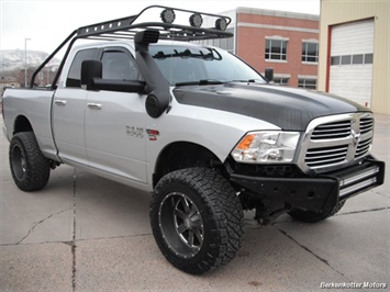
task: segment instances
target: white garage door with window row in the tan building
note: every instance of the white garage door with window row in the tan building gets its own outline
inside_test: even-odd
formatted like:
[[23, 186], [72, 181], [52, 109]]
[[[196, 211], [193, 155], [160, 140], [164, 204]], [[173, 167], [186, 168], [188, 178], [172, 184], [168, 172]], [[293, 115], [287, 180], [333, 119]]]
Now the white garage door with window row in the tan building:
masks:
[[330, 92], [370, 106], [374, 20], [332, 27]]

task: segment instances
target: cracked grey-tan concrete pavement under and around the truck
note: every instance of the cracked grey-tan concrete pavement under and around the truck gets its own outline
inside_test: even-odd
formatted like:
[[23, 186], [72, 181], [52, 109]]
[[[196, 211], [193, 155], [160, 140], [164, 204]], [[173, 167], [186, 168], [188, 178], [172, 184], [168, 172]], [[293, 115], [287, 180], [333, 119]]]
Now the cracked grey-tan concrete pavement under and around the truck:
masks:
[[[1, 133], [0, 291], [335, 291], [337, 283], [390, 290], [389, 176], [317, 224], [283, 215], [259, 227], [247, 213], [237, 257], [194, 277], [159, 252], [148, 193], [67, 166], [52, 171], [44, 190], [22, 192], [8, 145]], [[376, 115], [372, 153], [390, 173], [389, 115]]]

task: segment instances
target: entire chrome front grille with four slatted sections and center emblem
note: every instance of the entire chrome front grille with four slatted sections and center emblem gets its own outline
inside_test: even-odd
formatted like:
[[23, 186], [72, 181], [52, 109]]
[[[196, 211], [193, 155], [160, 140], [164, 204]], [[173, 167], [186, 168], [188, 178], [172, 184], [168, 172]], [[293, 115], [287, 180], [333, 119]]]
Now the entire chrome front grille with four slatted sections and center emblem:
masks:
[[371, 149], [374, 116], [350, 113], [313, 120], [298, 157], [299, 167], [317, 173], [335, 170], [367, 156]]

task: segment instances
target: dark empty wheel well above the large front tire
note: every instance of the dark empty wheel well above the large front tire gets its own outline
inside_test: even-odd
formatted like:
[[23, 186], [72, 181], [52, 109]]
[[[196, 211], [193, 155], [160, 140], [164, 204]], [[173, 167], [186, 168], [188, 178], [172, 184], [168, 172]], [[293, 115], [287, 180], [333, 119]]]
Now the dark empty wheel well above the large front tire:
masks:
[[153, 187], [167, 173], [191, 167], [221, 167], [221, 160], [205, 147], [177, 142], [166, 146], [159, 154], [153, 175]]

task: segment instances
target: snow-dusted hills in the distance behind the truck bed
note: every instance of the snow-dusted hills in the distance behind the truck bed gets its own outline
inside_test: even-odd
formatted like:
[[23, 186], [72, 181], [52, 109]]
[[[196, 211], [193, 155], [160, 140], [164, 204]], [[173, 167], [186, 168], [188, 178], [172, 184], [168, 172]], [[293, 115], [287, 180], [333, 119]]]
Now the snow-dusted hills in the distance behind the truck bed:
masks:
[[[0, 72], [13, 71], [24, 68], [25, 55], [24, 49], [3, 49], [0, 50]], [[27, 50], [27, 67], [40, 66], [48, 54], [41, 50]], [[59, 65], [60, 60], [54, 58], [49, 66]]]

